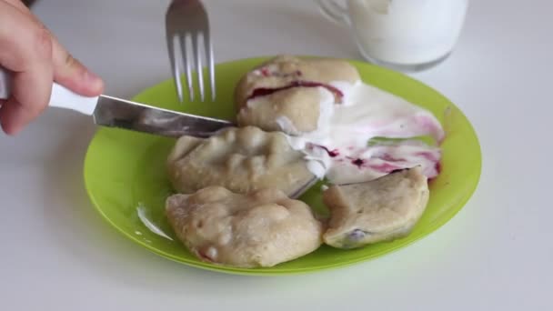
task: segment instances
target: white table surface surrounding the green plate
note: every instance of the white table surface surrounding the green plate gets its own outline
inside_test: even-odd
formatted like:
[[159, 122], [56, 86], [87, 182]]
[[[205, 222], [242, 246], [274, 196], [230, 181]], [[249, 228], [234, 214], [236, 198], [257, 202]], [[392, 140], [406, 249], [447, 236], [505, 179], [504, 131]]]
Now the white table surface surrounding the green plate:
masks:
[[[206, 1], [218, 62], [277, 53], [357, 58], [312, 1]], [[130, 97], [169, 77], [168, 1], [40, 0], [35, 13]], [[377, 260], [303, 276], [206, 272], [108, 226], [85, 193], [84, 116], [47, 111], [0, 135], [2, 310], [545, 310], [553, 303], [548, 0], [472, 1], [456, 52], [414, 75], [468, 115], [483, 151], [475, 195], [437, 232]]]

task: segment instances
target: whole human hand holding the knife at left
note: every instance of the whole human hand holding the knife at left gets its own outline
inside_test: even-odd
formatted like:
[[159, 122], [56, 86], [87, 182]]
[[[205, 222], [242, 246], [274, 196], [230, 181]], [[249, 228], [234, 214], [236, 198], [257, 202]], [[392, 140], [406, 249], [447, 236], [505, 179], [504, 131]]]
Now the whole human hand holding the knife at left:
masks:
[[0, 100], [0, 125], [8, 135], [40, 115], [54, 81], [85, 96], [104, 90], [102, 79], [73, 58], [19, 0], [0, 0], [0, 65], [14, 73], [10, 98]]

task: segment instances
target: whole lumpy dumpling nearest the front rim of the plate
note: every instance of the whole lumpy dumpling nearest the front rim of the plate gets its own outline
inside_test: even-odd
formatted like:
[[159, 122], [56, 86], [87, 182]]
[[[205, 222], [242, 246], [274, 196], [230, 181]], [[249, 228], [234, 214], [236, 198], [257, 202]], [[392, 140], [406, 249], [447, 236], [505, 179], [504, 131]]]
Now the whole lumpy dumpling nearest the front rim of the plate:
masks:
[[322, 244], [310, 207], [277, 189], [241, 195], [211, 186], [168, 197], [166, 216], [192, 253], [226, 266], [275, 266]]

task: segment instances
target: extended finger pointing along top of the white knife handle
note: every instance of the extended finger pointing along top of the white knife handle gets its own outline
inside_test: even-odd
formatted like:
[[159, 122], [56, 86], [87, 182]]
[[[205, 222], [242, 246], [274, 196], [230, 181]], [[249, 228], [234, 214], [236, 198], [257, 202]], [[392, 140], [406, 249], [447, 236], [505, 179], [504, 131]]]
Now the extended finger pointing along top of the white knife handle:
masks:
[[102, 79], [70, 55], [54, 35], [52, 35], [52, 61], [54, 80], [60, 85], [85, 96], [100, 95], [104, 91]]

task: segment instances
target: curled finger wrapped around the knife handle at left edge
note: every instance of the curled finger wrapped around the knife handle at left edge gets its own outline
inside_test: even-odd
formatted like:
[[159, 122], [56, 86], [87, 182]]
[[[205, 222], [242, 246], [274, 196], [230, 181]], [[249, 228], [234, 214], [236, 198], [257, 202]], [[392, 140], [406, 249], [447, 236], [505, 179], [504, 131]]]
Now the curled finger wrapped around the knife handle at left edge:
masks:
[[52, 40], [41, 25], [0, 2], [0, 64], [14, 72], [12, 96], [0, 108], [0, 124], [15, 134], [45, 108], [53, 81]]

